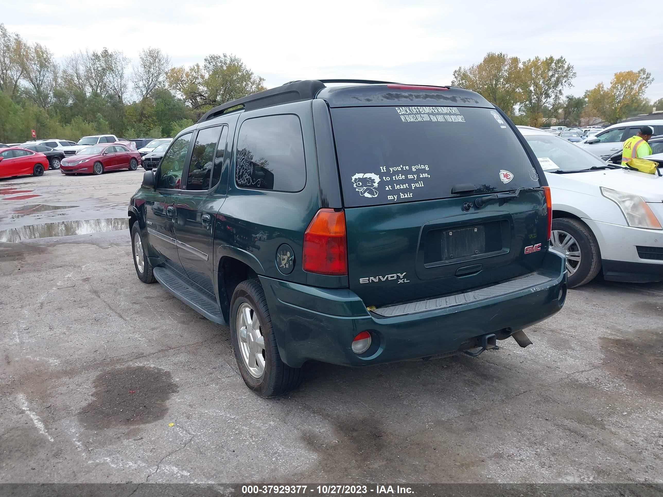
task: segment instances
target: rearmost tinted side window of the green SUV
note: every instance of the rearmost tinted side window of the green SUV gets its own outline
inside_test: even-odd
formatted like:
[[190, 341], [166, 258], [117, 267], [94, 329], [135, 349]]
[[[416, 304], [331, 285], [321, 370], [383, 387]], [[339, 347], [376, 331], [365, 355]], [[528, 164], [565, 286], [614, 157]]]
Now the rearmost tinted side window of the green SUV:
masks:
[[247, 119], [239, 129], [235, 182], [241, 188], [299, 192], [306, 184], [304, 138], [293, 114]]

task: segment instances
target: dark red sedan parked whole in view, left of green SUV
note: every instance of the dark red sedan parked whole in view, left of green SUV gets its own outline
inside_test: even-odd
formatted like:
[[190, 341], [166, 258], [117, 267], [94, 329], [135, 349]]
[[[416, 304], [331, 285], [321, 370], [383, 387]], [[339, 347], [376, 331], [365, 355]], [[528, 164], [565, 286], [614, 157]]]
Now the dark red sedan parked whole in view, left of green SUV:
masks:
[[60, 162], [62, 174], [102, 174], [105, 171], [128, 169], [135, 171], [141, 164], [141, 154], [121, 143], [86, 146], [76, 155]]

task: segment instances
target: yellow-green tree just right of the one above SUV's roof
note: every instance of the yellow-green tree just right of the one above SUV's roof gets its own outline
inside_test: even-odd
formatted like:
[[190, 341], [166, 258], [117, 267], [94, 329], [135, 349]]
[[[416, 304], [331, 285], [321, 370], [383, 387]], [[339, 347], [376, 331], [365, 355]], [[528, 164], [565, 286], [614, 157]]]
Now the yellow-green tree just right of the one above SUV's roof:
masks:
[[564, 88], [571, 86], [573, 78], [573, 66], [564, 57], [535, 57], [522, 62], [518, 78], [522, 94], [520, 106], [530, 126], [540, 125], [544, 107], [554, 110], [559, 106]]

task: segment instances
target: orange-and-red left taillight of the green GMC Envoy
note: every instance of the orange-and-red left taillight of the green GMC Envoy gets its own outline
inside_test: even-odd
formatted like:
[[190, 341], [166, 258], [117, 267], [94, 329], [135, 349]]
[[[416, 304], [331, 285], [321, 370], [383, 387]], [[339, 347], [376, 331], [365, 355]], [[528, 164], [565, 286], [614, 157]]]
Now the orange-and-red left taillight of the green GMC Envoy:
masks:
[[304, 233], [304, 271], [344, 276], [347, 274], [345, 213], [320, 209]]

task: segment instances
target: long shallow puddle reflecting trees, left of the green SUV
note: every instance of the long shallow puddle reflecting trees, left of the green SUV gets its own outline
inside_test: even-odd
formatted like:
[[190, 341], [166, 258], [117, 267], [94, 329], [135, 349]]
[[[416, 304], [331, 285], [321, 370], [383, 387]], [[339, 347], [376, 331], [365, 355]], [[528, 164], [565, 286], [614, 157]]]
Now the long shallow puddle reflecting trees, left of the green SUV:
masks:
[[108, 217], [106, 219], [83, 219], [80, 221], [60, 221], [40, 225], [19, 226], [0, 231], [0, 242], [19, 242], [34, 238], [68, 237], [69, 235], [88, 235], [103, 231], [127, 229], [126, 217]]

